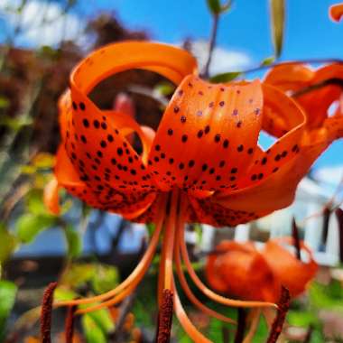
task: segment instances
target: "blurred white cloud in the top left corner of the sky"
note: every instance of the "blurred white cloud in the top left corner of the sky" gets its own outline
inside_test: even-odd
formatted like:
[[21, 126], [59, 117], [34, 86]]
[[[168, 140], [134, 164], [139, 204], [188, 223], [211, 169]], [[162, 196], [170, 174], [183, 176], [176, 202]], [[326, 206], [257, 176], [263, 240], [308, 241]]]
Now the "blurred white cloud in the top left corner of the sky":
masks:
[[[18, 14], [8, 9], [15, 9], [18, 3], [16, 0], [4, 0], [0, 6], [0, 12], [7, 8], [5, 19], [12, 27], [15, 27], [19, 18]], [[56, 45], [62, 39], [77, 40], [83, 28], [77, 15], [64, 14], [60, 4], [40, 0], [29, 1], [23, 7], [20, 23], [24, 28], [20, 42], [33, 46]]]

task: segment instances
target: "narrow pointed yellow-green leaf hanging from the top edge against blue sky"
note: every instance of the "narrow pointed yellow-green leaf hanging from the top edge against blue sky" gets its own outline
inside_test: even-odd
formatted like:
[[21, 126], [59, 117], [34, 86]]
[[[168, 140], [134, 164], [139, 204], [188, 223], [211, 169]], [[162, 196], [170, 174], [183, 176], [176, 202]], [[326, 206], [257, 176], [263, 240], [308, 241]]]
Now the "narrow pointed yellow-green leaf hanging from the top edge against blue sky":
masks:
[[271, 30], [275, 56], [279, 57], [283, 50], [283, 30], [285, 0], [269, 0], [271, 12]]

